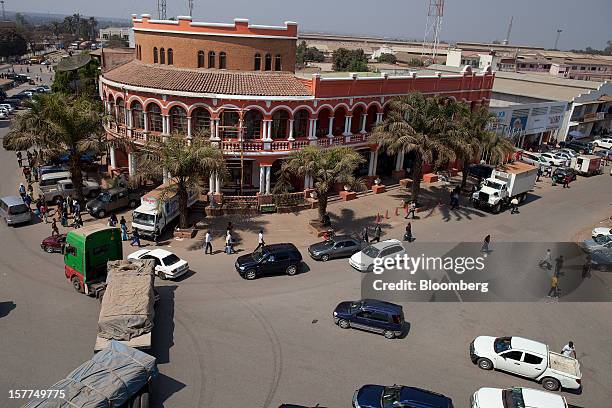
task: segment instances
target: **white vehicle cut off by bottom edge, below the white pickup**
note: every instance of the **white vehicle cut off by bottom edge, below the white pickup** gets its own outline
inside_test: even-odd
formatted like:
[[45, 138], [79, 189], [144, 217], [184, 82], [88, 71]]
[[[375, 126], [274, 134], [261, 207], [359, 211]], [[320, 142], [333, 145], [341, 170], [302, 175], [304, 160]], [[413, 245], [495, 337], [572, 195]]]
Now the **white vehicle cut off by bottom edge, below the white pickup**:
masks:
[[560, 395], [531, 388], [481, 388], [470, 398], [471, 408], [567, 408]]

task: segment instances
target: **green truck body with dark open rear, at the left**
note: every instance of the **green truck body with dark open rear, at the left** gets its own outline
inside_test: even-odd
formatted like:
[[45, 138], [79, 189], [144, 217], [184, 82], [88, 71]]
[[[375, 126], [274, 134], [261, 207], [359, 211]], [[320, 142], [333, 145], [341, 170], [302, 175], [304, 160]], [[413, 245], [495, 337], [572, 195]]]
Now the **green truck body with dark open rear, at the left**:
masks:
[[123, 259], [119, 228], [90, 225], [66, 235], [64, 273], [79, 293], [100, 298], [106, 288], [106, 263]]

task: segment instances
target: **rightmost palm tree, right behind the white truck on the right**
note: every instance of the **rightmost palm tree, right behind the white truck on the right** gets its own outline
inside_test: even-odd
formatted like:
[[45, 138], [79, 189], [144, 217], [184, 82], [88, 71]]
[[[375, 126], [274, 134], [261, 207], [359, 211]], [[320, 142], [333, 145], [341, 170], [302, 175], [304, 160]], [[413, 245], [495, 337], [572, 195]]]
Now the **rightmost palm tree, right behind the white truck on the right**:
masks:
[[467, 105], [461, 108], [456, 127], [457, 140], [462, 141], [462, 149], [458, 156], [463, 161], [461, 188], [467, 184], [468, 166], [474, 158], [487, 155], [489, 161], [498, 164], [512, 151], [512, 141], [489, 130], [489, 125], [495, 121], [495, 115], [486, 107], [471, 110]]

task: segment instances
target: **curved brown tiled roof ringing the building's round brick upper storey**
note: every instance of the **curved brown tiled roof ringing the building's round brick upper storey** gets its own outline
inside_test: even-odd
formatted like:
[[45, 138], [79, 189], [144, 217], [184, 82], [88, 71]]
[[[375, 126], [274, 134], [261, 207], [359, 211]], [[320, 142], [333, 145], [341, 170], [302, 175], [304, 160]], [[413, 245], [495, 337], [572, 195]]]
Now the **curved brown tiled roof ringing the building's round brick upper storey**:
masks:
[[185, 69], [131, 61], [104, 73], [125, 85], [223, 95], [310, 96], [309, 89], [287, 72], [240, 72]]

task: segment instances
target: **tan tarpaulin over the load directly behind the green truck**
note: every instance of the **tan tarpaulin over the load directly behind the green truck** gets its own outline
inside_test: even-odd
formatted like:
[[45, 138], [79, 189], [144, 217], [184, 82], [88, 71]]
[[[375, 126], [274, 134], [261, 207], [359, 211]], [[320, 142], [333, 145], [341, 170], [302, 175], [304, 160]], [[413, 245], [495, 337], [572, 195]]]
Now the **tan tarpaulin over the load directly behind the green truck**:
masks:
[[110, 261], [102, 298], [98, 336], [130, 340], [153, 329], [155, 263]]

